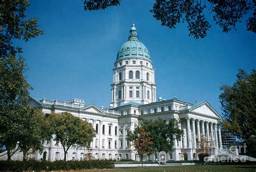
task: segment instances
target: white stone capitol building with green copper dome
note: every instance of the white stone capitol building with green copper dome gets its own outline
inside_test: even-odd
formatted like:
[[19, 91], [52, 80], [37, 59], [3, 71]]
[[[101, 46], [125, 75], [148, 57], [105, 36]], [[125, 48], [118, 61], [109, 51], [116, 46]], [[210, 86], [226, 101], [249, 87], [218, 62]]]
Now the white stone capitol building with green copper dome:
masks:
[[[166, 153], [166, 160], [197, 159], [196, 149], [200, 148], [202, 137], [212, 147], [212, 155], [218, 155], [222, 149], [221, 131], [218, 127], [220, 115], [207, 102], [183, 102], [177, 97], [163, 99], [156, 96], [157, 85], [154, 78], [152, 57], [146, 46], [139, 41], [137, 30], [132, 25], [128, 40], [120, 47], [114, 61], [112, 98], [110, 107], [87, 105], [83, 99], [72, 98], [69, 101], [49, 100], [30, 97], [30, 105], [43, 113], [70, 112], [93, 125], [96, 137], [91, 149], [72, 147], [67, 160], [82, 160], [87, 153], [95, 159], [137, 160], [136, 150], [129, 146], [126, 134], [133, 131], [139, 123], [138, 117], [146, 119], [176, 118], [184, 131], [181, 140], [174, 140], [173, 152]], [[184, 156], [186, 154], [186, 156]], [[43, 153], [30, 155], [36, 160], [63, 160], [63, 147], [54, 138], [45, 142]], [[159, 154], [147, 156], [147, 160], [159, 160]], [[13, 160], [22, 160], [22, 153], [16, 152]], [[2, 155], [1, 159], [7, 159]]]

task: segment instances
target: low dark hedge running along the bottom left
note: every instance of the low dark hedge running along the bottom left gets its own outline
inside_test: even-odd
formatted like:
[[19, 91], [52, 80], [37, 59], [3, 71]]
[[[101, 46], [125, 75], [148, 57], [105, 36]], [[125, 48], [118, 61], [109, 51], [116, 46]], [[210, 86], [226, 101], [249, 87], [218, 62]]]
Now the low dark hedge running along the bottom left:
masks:
[[0, 161], [0, 171], [51, 171], [51, 170], [83, 170], [114, 168], [113, 161], [88, 160], [88, 161]]

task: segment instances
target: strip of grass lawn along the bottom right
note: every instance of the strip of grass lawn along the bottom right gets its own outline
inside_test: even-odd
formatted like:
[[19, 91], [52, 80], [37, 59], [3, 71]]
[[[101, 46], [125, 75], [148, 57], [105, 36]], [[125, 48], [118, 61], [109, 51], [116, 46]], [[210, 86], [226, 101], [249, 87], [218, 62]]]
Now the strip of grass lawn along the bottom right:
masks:
[[[87, 171], [87, 170], [86, 170]], [[90, 171], [90, 170], [89, 170]], [[91, 170], [97, 171], [97, 170]], [[111, 170], [98, 170], [98, 171], [149, 171], [149, 172], [167, 172], [167, 171], [253, 171], [256, 172], [255, 165], [195, 165], [195, 166], [160, 166], [160, 167], [124, 167], [114, 168]]]

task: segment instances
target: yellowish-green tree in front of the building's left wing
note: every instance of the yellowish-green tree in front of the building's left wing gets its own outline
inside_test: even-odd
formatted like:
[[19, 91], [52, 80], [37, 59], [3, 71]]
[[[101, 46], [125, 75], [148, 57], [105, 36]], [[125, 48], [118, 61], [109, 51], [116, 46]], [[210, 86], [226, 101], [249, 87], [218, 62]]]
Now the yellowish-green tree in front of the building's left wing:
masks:
[[46, 119], [46, 125], [55, 135], [54, 140], [62, 144], [64, 161], [66, 161], [66, 153], [71, 146], [89, 149], [92, 139], [96, 136], [92, 124], [69, 112], [51, 113]]

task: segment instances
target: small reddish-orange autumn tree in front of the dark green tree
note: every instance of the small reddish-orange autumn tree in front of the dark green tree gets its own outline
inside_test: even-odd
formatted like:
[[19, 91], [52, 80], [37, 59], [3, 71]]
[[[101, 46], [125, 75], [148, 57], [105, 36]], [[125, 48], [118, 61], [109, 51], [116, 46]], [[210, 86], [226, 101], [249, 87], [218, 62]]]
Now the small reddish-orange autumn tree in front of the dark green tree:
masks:
[[133, 142], [132, 146], [136, 148], [143, 167], [143, 157], [145, 155], [151, 155], [156, 151], [153, 147], [153, 138], [151, 138], [150, 132], [145, 132], [144, 128], [137, 126], [133, 132], [130, 131], [127, 134], [126, 139]]

